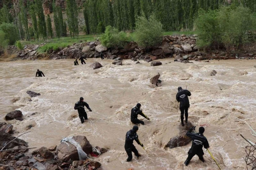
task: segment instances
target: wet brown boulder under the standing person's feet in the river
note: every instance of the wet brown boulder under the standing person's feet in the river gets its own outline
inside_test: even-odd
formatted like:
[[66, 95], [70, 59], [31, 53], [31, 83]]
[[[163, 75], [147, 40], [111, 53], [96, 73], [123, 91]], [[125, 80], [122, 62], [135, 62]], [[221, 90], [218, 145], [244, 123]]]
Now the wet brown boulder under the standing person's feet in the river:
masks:
[[179, 125], [179, 135], [171, 138], [165, 147], [172, 149], [187, 145], [191, 141], [191, 138], [189, 138], [186, 133], [191, 127], [194, 127], [194, 125], [192, 125], [190, 121], [188, 121], [187, 124], [185, 123], [185, 126]]

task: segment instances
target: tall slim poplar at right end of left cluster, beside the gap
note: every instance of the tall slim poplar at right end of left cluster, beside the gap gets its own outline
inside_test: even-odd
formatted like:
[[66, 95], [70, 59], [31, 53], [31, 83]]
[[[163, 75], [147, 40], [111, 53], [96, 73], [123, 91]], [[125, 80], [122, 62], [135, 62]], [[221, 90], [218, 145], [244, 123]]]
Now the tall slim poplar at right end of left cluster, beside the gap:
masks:
[[75, 0], [66, 0], [67, 22], [71, 37], [78, 37], [78, 10]]

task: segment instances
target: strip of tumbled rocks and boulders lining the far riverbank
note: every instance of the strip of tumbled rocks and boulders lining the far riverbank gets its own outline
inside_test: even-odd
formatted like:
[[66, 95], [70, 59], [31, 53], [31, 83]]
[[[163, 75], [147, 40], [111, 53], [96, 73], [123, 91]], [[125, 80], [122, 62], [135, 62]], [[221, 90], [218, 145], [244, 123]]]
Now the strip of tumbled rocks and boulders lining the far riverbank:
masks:
[[151, 62], [156, 59], [173, 57], [177, 61], [183, 60], [205, 60], [205, 59], [255, 59], [256, 53], [232, 52], [226, 51], [198, 51], [196, 46], [197, 35], [192, 37], [186, 36], [163, 36], [162, 43], [150, 49], [139, 48], [135, 42], [130, 42], [124, 48], [114, 49], [106, 48], [101, 45], [99, 41], [74, 43], [64, 49], [49, 50], [46, 53], [38, 53], [37, 50], [40, 45], [26, 45], [23, 50], [18, 50], [15, 46], [9, 46], [7, 51], [13, 55], [14, 59], [65, 59], [65, 58], [79, 58], [84, 56], [86, 58], [99, 58], [100, 53], [103, 52], [105, 58], [115, 59], [132, 59], [145, 60]]

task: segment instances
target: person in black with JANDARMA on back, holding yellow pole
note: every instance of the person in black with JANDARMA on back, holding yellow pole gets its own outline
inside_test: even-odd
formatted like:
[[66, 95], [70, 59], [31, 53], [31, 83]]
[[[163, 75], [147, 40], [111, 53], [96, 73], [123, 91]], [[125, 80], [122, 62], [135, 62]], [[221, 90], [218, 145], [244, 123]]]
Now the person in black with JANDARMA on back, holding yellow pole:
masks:
[[[195, 126], [196, 127], [196, 126]], [[205, 162], [203, 159], [203, 147], [205, 149], [208, 149], [209, 143], [205, 136], [203, 136], [203, 132], [205, 132], [204, 127], [199, 127], [199, 133], [191, 133], [192, 130], [195, 130], [195, 127], [191, 127], [189, 131], [187, 132], [187, 136], [192, 138], [192, 146], [190, 150], [188, 151], [188, 158], [184, 162], [186, 166], [188, 166], [190, 160], [193, 158], [193, 156], [197, 155], [202, 162]]]

